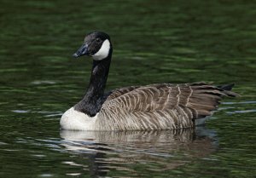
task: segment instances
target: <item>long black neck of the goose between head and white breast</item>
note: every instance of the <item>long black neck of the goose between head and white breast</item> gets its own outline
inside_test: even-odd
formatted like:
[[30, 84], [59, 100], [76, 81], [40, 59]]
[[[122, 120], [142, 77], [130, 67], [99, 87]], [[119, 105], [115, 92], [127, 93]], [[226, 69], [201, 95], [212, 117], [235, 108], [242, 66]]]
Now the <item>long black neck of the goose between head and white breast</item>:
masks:
[[112, 49], [110, 49], [107, 58], [103, 60], [93, 60], [89, 87], [83, 100], [80, 100], [79, 103], [74, 106], [75, 110], [84, 112], [90, 117], [95, 116], [96, 113], [101, 110], [104, 89], [108, 79], [111, 55]]

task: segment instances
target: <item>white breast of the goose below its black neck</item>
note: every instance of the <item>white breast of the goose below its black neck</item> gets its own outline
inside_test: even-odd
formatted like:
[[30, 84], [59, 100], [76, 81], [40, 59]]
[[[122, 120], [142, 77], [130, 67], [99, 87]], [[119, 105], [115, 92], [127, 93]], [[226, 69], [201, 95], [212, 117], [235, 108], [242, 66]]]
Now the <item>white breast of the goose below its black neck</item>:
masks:
[[61, 128], [73, 130], [96, 130], [97, 115], [98, 113], [95, 117], [90, 117], [83, 112], [74, 110], [74, 108], [71, 107], [61, 117]]

